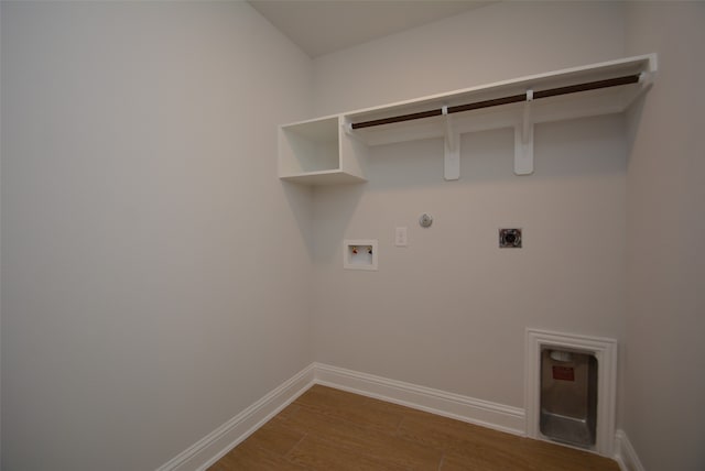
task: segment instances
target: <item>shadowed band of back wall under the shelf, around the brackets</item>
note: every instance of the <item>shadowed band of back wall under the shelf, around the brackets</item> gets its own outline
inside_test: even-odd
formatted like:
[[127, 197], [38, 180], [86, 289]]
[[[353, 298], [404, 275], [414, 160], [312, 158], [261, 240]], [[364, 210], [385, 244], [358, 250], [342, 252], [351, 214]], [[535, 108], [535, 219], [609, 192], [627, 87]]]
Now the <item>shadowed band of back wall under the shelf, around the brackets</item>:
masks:
[[578, 118], [536, 124], [535, 172], [513, 173], [512, 128], [460, 135], [460, 178], [443, 178], [444, 142], [427, 139], [370, 149], [369, 190], [451, 188], [467, 185], [530, 183], [542, 178], [623, 174], [623, 153], [611, 144], [623, 142], [621, 116]]

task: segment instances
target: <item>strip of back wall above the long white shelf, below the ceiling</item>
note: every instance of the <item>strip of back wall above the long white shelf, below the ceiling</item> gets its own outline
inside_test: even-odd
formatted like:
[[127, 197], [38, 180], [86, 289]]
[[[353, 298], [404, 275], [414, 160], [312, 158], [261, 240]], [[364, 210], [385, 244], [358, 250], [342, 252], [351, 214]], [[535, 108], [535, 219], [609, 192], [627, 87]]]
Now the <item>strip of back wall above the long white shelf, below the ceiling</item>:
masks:
[[619, 58], [620, 2], [497, 2], [314, 61], [326, 116]]

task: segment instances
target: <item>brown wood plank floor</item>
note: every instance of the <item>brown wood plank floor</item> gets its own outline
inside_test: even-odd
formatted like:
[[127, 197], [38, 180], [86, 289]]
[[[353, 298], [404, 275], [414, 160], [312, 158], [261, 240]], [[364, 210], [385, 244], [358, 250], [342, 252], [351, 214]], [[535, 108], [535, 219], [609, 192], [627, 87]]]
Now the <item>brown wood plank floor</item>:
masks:
[[612, 460], [314, 385], [210, 471], [619, 471]]

